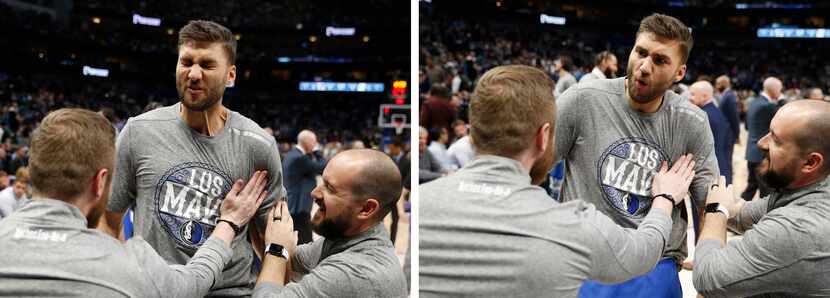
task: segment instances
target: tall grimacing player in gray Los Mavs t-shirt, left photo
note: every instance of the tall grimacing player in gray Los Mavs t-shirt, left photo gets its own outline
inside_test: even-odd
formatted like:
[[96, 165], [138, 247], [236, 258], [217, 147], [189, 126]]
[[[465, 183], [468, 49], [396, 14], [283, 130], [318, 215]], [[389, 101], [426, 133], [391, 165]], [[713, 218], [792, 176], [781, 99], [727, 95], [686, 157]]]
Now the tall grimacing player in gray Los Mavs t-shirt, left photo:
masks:
[[[252, 221], [260, 239], [268, 208], [285, 193], [274, 138], [222, 105], [225, 86], [236, 77], [235, 55], [230, 30], [213, 22], [188, 23], [179, 31], [181, 102], [131, 118], [118, 138], [107, 222], [117, 227], [124, 210], [133, 207], [135, 234], [170, 263], [186, 263], [205, 243], [234, 181], [268, 172], [268, 195]], [[248, 226], [240, 228], [231, 264], [210, 295], [252, 293], [254, 250]]]

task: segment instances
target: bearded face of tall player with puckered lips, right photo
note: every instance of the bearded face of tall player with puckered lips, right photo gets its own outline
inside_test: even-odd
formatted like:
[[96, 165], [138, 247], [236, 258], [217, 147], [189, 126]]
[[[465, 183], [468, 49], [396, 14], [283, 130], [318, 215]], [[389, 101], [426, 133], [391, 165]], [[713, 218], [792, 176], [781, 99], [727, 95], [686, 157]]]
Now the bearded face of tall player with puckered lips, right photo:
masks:
[[686, 65], [680, 59], [679, 41], [658, 38], [648, 32], [639, 34], [626, 69], [631, 99], [638, 103], [660, 99], [686, 74]]

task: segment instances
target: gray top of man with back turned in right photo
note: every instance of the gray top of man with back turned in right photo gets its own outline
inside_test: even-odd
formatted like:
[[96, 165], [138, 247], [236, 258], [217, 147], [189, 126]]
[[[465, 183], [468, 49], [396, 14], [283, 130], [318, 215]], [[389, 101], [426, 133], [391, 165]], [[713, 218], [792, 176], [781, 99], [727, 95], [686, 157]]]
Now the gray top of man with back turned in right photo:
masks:
[[530, 182], [518, 161], [483, 155], [421, 185], [421, 297], [576, 297], [586, 279], [618, 283], [659, 261], [672, 226], [664, 210], [621, 228]]

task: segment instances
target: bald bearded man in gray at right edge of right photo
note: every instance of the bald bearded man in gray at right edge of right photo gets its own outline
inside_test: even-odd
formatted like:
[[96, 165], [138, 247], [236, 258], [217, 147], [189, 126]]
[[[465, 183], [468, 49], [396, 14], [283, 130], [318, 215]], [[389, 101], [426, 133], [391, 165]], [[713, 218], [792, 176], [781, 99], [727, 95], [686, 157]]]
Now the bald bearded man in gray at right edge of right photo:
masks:
[[[737, 200], [721, 178], [706, 199], [695, 288], [706, 297], [830, 296], [830, 103], [782, 107], [758, 142], [760, 200]], [[726, 243], [727, 222], [743, 237]]]

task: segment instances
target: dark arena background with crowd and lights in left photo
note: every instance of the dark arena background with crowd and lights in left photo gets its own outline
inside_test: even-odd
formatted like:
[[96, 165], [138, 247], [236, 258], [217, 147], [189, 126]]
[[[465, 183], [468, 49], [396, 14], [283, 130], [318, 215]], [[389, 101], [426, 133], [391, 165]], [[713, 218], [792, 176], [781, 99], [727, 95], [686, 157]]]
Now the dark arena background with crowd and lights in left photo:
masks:
[[[179, 102], [178, 30], [190, 20], [235, 34], [222, 102], [273, 133], [281, 155], [311, 130], [326, 160], [363, 147], [406, 156], [413, 41], [410, 6], [396, 2], [0, 0], [0, 171], [13, 179], [27, 165], [52, 110], [101, 112], [120, 130]], [[402, 264], [408, 227], [396, 228]]]

